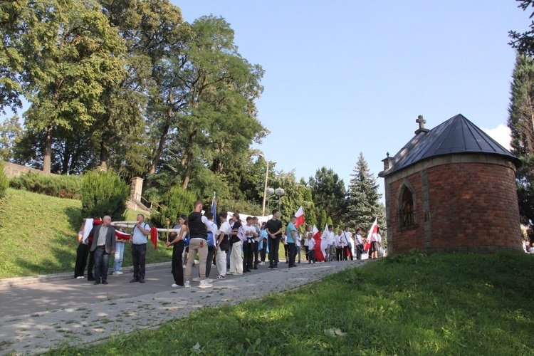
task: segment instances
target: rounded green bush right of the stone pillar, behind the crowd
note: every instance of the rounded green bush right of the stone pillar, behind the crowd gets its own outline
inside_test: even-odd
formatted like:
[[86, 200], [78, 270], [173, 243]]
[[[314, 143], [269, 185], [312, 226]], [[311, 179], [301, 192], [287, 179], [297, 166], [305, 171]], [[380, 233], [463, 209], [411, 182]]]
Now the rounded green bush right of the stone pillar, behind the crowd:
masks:
[[150, 222], [157, 227], [167, 227], [166, 219], [174, 226], [179, 215], [189, 215], [193, 211], [193, 203], [197, 196], [179, 185], [172, 187], [163, 194], [160, 207], [150, 215]]

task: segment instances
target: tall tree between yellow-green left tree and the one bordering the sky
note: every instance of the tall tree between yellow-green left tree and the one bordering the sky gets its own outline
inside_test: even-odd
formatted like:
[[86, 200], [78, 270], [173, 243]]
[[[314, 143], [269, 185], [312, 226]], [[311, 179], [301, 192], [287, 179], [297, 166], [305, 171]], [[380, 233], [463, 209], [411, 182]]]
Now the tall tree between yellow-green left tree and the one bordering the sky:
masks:
[[97, 120], [99, 165], [105, 168], [109, 163], [125, 177], [145, 176], [147, 169], [155, 174], [170, 125], [165, 117], [169, 105], [159, 100], [169, 93], [161, 63], [184, 42], [182, 12], [168, 0], [100, 0], [100, 4], [126, 43], [128, 75], [110, 88], [107, 110]]

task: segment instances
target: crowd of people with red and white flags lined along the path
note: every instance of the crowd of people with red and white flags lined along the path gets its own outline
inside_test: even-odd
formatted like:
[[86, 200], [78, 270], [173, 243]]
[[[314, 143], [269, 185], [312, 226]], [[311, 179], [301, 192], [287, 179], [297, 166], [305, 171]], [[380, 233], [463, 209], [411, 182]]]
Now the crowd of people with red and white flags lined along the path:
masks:
[[[190, 288], [191, 282], [199, 282], [199, 288], [210, 288], [212, 266], [218, 271], [217, 279], [226, 279], [227, 275], [241, 276], [257, 270], [258, 266], [268, 263], [269, 270], [278, 269], [280, 244], [284, 246], [288, 268], [297, 267], [297, 263], [360, 260], [367, 251], [366, 241], [362, 238], [362, 229], [353, 235], [348, 226], [334, 234], [333, 225], [329, 225], [323, 234], [314, 233], [313, 226], [308, 225], [304, 234], [300, 234], [296, 225], [297, 218], [290, 217], [284, 229], [280, 220], [280, 211], [273, 210], [272, 218], [261, 225], [255, 216], [247, 216], [242, 224], [239, 213], [219, 214], [220, 226], [217, 226], [214, 214], [206, 211], [202, 214], [201, 201], [195, 201], [194, 211], [181, 215], [173, 227], [167, 247], [172, 246], [173, 288]], [[100, 219], [84, 219], [78, 232], [78, 251], [74, 277], [84, 278], [88, 262], [88, 280], [95, 285], [108, 284], [108, 265], [110, 256], [115, 255], [112, 274], [122, 274], [122, 258], [125, 241], [132, 244], [133, 279], [130, 283], [145, 283], [145, 256], [147, 252], [150, 226], [145, 223], [143, 214], [137, 215], [137, 221], [130, 234], [115, 230], [110, 216]], [[377, 232], [370, 236], [369, 258], [378, 258], [382, 246], [382, 237]], [[198, 276], [192, 278], [193, 267], [198, 255]], [[93, 273], [94, 268], [94, 273]]]

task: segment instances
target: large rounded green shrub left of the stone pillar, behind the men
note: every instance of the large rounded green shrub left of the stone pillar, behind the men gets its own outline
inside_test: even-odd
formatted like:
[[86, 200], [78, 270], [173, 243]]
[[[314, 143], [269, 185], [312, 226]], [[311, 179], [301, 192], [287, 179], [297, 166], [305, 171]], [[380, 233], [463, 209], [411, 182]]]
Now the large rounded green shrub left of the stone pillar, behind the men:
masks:
[[80, 188], [83, 216], [109, 215], [115, 221], [124, 219], [130, 187], [118, 174], [111, 170], [87, 172]]

